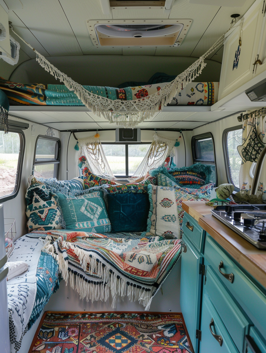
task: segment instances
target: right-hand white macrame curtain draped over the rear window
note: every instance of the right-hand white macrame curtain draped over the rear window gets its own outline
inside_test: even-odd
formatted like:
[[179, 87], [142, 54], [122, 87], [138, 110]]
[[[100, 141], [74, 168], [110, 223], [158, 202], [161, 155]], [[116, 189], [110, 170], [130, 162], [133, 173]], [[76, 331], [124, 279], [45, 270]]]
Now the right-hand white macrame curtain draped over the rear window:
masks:
[[144, 177], [149, 170], [162, 166], [165, 158], [170, 155], [173, 146], [175, 146], [176, 139], [160, 136], [157, 133], [153, 137], [154, 140], [146, 156], [130, 178], [132, 181]]

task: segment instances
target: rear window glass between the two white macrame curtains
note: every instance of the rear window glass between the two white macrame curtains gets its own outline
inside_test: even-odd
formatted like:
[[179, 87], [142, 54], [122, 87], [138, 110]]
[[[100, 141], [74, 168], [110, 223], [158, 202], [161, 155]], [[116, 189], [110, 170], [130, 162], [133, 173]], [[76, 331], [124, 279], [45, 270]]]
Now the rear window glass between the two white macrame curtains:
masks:
[[150, 144], [102, 143], [105, 156], [115, 177], [132, 176], [150, 147]]

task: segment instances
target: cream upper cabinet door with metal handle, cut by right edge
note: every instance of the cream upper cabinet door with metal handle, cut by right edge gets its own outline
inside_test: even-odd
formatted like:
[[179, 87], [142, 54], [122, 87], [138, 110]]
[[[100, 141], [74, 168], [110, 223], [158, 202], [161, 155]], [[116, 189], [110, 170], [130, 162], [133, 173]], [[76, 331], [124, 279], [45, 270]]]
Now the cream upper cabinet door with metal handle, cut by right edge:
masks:
[[260, 60], [262, 64], [253, 65], [253, 77], [266, 70], [266, 1], [261, 1], [255, 40], [258, 43], [252, 64], [257, 60]]

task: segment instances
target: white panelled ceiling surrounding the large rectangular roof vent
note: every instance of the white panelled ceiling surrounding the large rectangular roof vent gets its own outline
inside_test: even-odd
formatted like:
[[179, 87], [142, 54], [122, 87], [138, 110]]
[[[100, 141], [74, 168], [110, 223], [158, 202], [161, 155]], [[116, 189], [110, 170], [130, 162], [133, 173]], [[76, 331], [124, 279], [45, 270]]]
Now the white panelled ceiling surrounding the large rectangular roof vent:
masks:
[[[8, 18], [14, 30], [45, 56], [84, 54], [136, 54], [200, 56], [230, 26], [232, 13], [241, 16], [254, 0], [244, 1], [242, 7], [224, 7], [192, 4], [189, 0], [175, 0], [170, 15], [163, 10], [112, 10], [111, 15], [102, 13], [99, 0], [1, 0], [9, 8]], [[220, 1], [223, 3], [223, 1]], [[133, 18], [192, 19], [187, 37], [180, 47], [96, 48], [88, 34], [89, 19]], [[22, 50], [28, 58], [35, 54], [24, 43]], [[136, 48], [135, 48], [136, 49]], [[141, 50], [140, 50], [141, 49]], [[220, 53], [211, 54], [221, 62]]]

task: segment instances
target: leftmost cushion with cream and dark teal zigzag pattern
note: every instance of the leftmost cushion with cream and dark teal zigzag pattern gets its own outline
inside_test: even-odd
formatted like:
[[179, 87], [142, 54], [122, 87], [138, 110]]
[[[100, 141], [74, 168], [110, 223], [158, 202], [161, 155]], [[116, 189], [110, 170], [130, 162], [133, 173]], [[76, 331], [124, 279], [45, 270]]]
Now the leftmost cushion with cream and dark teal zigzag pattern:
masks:
[[32, 178], [26, 192], [26, 216], [29, 232], [33, 229], [48, 231], [64, 228], [64, 219], [58, 206], [58, 196], [49, 192], [46, 186]]

